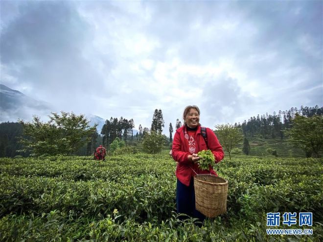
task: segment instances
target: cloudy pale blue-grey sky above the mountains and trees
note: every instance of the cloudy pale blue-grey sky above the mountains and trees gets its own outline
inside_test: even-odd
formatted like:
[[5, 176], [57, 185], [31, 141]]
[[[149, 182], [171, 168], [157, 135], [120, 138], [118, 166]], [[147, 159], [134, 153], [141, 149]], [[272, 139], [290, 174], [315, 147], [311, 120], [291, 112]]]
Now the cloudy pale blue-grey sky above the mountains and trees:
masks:
[[0, 1], [1, 84], [53, 109], [175, 126], [323, 106], [322, 1]]

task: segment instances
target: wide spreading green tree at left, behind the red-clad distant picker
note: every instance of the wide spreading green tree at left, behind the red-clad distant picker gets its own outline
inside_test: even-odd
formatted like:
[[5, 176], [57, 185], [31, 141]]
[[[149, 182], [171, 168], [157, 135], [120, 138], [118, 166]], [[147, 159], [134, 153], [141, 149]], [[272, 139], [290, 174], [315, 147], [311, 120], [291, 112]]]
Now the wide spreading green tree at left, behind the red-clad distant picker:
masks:
[[32, 122], [20, 121], [23, 125], [23, 137], [20, 142], [22, 151], [32, 151], [32, 155], [73, 154], [91, 141], [96, 125], [90, 127], [84, 115], [61, 112], [51, 113], [48, 122], [34, 116]]

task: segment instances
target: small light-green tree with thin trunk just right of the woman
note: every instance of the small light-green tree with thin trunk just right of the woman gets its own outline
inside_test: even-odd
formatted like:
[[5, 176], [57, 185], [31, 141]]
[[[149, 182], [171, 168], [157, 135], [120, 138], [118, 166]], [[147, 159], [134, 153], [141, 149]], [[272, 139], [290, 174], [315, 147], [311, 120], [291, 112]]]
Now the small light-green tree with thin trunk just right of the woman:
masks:
[[231, 159], [231, 150], [243, 139], [242, 131], [239, 127], [232, 124], [218, 124], [215, 131], [220, 144], [229, 153]]

